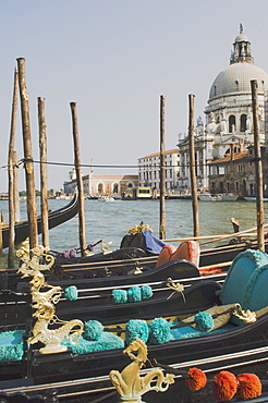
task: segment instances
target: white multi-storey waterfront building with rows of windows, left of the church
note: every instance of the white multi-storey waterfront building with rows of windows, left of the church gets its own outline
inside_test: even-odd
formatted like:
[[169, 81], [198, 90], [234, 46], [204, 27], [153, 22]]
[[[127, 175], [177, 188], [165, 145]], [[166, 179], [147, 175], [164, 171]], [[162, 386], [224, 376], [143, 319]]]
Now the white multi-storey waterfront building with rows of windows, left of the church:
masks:
[[[165, 151], [166, 190], [178, 187], [180, 158], [178, 149]], [[160, 191], [160, 152], [138, 158], [138, 184]]]

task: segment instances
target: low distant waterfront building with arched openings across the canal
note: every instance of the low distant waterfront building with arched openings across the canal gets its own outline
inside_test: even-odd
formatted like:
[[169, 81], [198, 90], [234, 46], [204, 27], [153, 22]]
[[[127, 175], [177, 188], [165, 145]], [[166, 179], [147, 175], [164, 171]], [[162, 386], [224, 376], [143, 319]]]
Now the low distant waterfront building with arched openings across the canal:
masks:
[[[70, 180], [63, 183], [64, 193], [73, 194], [77, 186], [75, 170], [69, 172]], [[85, 196], [121, 195], [126, 187], [138, 185], [137, 175], [101, 175], [89, 173], [82, 176]]]

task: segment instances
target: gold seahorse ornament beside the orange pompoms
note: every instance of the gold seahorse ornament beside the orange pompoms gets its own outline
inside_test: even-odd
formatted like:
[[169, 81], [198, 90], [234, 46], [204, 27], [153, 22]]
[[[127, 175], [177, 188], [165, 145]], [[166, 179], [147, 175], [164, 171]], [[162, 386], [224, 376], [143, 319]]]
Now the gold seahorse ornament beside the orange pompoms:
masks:
[[[133, 354], [137, 352], [137, 354]], [[155, 390], [166, 392], [171, 383], [174, 383], [174, 375], [167, 374], [160, 368], [153, 368], [146, 375], [141, 376], [139, 370], [147, 361], [147, 345], [138, 338], [130, 343], [123, 351], [133, 362], [122, 373], [111, 370], [110, 380], [120, 394], [120, 402], [143, 403], [142, 395]]]

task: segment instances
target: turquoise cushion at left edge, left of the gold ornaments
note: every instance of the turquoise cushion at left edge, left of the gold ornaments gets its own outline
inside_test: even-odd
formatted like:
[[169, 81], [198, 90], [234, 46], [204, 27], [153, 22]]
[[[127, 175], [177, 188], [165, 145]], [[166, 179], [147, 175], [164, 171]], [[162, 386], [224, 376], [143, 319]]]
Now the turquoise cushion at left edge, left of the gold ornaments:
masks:
[[23, 356], [23, 330], [0, 333], [0, 362], [20, 361]]

